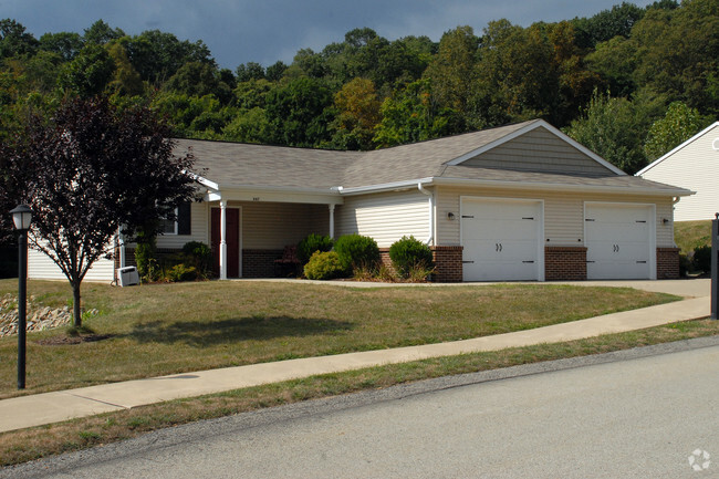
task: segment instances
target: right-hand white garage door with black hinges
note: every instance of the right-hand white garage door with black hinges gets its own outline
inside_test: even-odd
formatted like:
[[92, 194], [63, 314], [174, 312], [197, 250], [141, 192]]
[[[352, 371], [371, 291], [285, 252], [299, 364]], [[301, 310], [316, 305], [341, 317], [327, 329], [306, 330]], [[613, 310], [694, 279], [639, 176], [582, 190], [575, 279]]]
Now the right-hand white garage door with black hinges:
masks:
[[652, 279], [654, 208], [648, 205], [586, 204], [584, 240], [590, 280]]

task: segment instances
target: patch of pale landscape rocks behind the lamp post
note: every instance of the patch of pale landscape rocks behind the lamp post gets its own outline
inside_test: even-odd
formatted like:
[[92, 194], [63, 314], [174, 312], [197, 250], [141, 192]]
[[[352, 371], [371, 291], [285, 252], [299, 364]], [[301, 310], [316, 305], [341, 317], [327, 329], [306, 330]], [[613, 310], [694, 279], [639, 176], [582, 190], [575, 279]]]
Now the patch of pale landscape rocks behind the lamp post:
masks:
[[[87, 313], [96, 315], [97, 310]], [[50, 308], [35, 302], [34, 296], [28, 299], [28, 332], [52, 330], [72, 322], [69, 306]], [[0, 300], [0, 337], [18, 334], [18, 298], [6, 294]]]

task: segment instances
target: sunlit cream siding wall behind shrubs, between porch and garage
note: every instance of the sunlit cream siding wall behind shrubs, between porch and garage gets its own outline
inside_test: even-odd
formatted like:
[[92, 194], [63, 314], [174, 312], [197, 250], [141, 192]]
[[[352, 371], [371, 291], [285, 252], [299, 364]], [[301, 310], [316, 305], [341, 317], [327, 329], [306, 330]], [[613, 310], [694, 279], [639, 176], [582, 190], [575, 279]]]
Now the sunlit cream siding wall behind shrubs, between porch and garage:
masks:
[[393, 191], [346, 197], [335, 211], [335, 237], [359, 233], [388, 248], [403, 236], [429, 237], [429, 197], [417, 191]]

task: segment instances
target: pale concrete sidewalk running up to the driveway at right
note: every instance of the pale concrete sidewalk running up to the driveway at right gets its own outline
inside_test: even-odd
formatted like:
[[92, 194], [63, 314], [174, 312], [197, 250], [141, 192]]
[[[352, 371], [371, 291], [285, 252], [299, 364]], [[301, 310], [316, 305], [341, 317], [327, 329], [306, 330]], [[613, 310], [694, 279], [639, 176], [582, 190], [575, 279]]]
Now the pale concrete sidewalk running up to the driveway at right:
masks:
[[687, 299], [642, 310], [451, 343], [227, 367], [15, 397], [0, 400], [0, 433], [317, 374], [640, 330], [676, 321], [706, 317], [710, 312], [709, 283], [705, 280], [577, 284], [629, 285], [652, 291], [674, 291]]

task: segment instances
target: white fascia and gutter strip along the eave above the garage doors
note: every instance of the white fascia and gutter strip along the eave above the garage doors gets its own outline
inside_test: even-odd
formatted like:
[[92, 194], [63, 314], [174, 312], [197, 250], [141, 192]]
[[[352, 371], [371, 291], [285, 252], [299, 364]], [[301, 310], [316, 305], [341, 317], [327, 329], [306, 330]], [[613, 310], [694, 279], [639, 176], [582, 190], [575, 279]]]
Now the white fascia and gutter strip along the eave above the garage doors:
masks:
[[561, 183], [531, 183], [531, 181], [500, 181], [493, 179], [465, 179], [465, 178], [434, 178], [438, 186], [480, 186], [482, 188], [506, 188], [542, 191], [566, 191], [566, 192], [609, 192], [638, 196], [691, 196], [696, 191], [685, 188], [640, 188], [640, 187], [616, 187], [603, 185], [565, 185]]

